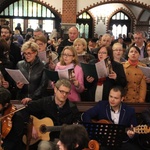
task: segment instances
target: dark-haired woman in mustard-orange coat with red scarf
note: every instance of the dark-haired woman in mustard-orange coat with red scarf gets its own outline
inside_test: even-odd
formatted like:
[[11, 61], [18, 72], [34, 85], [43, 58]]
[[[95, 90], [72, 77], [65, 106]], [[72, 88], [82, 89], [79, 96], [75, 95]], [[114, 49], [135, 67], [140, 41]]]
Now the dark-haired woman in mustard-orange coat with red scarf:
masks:
[[125, 97], [125, 102], [145, 102], [146, 78], [138, 65], [146, 65], [139, 62], [139, 57], [140, 49], [137, 46], [131, 46], [128, 50], [128, 61], [123, 63], [127, 78], [127, 93]]

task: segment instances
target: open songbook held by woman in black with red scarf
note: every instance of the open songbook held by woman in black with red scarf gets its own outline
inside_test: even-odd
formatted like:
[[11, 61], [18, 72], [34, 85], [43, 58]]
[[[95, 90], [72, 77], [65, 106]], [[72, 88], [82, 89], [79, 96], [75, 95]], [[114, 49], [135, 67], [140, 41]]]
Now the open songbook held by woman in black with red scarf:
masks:
[[112, 65], [109, 57], [95, 64], [81, 63], [85, 77], [91, 76], [96, 79], [107, 77], [112, 72]]

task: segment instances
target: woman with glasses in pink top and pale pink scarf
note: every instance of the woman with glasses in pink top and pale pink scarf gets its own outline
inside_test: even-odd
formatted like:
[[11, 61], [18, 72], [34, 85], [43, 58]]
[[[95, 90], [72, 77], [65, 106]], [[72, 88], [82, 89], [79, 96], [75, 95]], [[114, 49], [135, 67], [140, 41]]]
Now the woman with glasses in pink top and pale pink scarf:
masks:
[[55, 71], [74, 69], [70, 81], [72, 83], [68, 99], [70, 101], [80, 101], [80, 93], [84, 91], [84, 76], [82, 68], [78, 65], [77, 53], [73, 46], [66, 46], [60, 57], [60, 62], [57, 63]]

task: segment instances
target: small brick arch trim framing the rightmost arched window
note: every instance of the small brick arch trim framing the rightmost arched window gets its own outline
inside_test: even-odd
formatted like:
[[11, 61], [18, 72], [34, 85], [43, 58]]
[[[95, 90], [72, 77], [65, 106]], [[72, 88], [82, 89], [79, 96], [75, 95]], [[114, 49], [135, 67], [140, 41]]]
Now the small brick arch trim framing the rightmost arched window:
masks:
[[116, 9], [114, 12], [112, 12], [109, 15], [109, 18], [107, 19], [107, 22], [106, 22], [106, 29], [108, 30], [108, 26], [110, 24], [110, 19], [113, 17], [113, 15], [115, 15], [117, 12], [120, 12], [120, 11], [124, 12], [125, 14], [127, 14], [128, 17], [131, 19], [131, 24], [132, 24], [132, 27], [133, 27], [133, 30], [134, 30], [135, 29], [135, 24], [136, 24], [136, 22], [135, 22], [136, 17], [131, 11], [129, 11], [126, 8], [118, 8], [118, 9]]

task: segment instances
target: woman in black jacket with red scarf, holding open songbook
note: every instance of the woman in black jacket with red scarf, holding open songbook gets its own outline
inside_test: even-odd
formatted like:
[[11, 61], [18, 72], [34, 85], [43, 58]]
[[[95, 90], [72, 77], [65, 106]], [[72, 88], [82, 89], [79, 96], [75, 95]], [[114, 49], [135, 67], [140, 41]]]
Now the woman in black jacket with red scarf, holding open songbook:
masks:
[[[94, 101], [108, 100], [109, 91], [113, 86], [126, 86], [126, 76], [122, 64], [113, 60], [113, 52], [110, 46], [101, 46], [97, 56], [98, 59], [91, 60], [90, 63], [95, 64], [109, 57], [109, 66], [111, 63], [112, 68], [110, 69], [109, 75], [106, 77], [99, 79], [91, 76], [86, 77], [88, 82], [88, 84], [86, 84], [88, 89], [87, 93], [89, 94], [87, 97]], [[101, 70], [101, 68], [99, 68], [99, 70]]]

